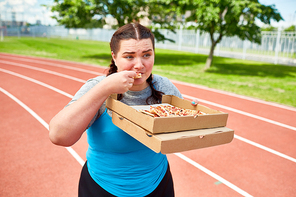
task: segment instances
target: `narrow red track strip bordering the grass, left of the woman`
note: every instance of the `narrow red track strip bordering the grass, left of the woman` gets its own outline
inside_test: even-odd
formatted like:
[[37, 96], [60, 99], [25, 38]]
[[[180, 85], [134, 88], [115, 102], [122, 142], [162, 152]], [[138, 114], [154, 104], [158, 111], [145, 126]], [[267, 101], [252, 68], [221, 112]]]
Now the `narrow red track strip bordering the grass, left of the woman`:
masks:
[[[63, 64], [57, 64], [57, 63], [52, 63], [52, 62], [45, 62], [45, 61], [31, 60], [31, 59], [23, 59], [23, 58], [17, 58], [17, 57], [8, 57], [8, 56], [1, 56], [1, 58], [13, 59], [13, 60], [21, 60], [21, 61], [25, 61], [25, 62], [44, 64], [44, 65], [47, 65], [47, 66], [55, 66], [55, 67], [60, 67], [60, 68], [66, 68], [66, 69], [69, 69], [69, 70], [76, 70], [76, 71], [89, 73], [89, 74], [94, 74], [94, 75], [103, 75], [100, 72], [90, 71], [90, 70], [83, 69], [83, 68], [77, 68], [77, 67], [73, 67], [73, 66], [66, 66], [66, 65], [63, 65]], [[106, 67], [106, 69], [107, 69], [107, 67]]]

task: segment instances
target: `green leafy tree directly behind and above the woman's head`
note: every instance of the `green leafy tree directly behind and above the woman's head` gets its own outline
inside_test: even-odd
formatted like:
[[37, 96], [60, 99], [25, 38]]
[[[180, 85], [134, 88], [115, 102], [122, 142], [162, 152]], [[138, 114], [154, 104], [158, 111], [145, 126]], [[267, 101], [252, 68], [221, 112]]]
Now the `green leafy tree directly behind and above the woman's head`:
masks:
[[[105, 18], [111, 15], [117, 21], [113, 28], [147, 17], [154, 26], [175, 32], [177, 5], [178, 1], [169, 0], [54, 0], [51, 11], [58, 14], [53, 18], [67, 28], [103, 27]], [[153, 28], [153, 33], [157, 41], [170, 40], [158, 28]]]

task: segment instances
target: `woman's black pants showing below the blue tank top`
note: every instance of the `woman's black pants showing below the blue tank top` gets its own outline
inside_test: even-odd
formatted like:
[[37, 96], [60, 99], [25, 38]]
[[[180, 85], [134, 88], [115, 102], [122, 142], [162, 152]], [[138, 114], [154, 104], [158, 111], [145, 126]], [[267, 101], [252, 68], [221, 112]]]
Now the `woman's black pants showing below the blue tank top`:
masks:
[[[100, 185], [98, 185], [90, 176], [86, 163], [84, 164], [79, 180], [78, 188], [79, 197], [115, 197]], [[168, 166], [167, 172], [163, 177], [157, 188], [147, 195], [146, 197], [174, 197], [174, 184], [170, 167]]]

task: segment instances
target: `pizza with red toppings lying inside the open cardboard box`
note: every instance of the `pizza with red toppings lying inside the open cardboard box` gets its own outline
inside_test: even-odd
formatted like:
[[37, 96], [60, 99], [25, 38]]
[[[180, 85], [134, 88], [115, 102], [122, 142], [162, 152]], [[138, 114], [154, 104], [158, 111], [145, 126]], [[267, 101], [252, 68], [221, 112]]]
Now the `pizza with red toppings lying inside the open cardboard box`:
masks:
[[150, 110], [140, 110], [140, 112], [152, 117], [174, 117], [174, 116], [194, 116], [204, 115], [200, 110], [183, 109], [171, 105], [150, 106]]

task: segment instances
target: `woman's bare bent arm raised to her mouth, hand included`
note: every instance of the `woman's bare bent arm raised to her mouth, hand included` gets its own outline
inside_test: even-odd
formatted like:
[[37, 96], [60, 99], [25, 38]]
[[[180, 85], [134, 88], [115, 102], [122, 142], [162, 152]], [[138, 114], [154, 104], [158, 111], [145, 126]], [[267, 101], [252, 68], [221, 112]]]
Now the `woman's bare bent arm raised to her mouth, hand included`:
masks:
[[112, 74], [77, 101], [63, 108], [49, 123], [49, 138], [52, 143], [61, 146], [75, 144], [108, 96], [126, 92], [132, 87], [135, 75], [133, 71]]

